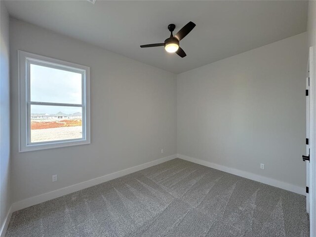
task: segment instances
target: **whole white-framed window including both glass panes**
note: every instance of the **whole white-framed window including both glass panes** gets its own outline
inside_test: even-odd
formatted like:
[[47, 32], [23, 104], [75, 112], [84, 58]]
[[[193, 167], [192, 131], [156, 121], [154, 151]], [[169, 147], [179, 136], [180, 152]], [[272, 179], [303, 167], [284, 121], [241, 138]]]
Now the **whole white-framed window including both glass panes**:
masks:
[[90, 68], [19, 54], [19, 152], [90, 143]]

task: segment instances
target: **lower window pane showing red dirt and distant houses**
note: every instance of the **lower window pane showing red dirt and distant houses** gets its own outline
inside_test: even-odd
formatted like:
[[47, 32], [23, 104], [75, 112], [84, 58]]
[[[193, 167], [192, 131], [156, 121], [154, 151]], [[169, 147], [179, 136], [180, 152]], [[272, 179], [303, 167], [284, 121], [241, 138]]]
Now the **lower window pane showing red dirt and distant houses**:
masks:
[[31, 143], [82, 138], [82, 108], [31, 105]]

